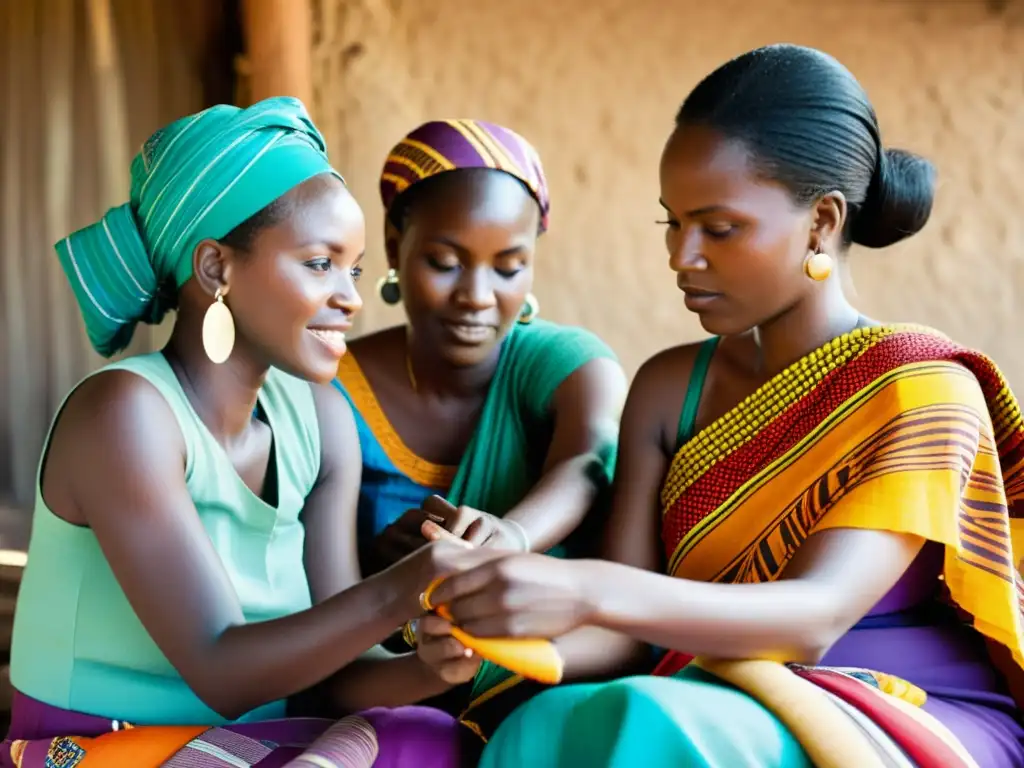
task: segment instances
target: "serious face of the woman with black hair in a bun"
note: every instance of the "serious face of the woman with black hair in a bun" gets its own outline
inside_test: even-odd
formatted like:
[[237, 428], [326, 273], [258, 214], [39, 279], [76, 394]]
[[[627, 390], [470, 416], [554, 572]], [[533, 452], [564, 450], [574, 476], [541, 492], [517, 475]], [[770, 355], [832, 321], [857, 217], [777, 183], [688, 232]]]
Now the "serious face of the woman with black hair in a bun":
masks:
[[669, 138], [660, 183], [669, 265], [705, 330], [742, 333], [815, 290], [803, 265], [809, 249], [826, 245], [818, 229], [830, 202], [797, 205], [755, 172], [741, 143], [699, 125]]

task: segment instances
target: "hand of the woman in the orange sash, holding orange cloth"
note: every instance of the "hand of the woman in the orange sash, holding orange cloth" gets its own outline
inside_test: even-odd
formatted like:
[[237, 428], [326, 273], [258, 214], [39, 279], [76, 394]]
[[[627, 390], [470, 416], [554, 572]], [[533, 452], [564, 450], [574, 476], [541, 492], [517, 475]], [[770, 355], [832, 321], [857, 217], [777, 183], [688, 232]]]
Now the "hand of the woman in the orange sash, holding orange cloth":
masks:
[[[431, 525], [452, 536], [430, 522], [425, 536]], [[446, 605], [455, 626], [476, 637], [556, 638], [597, 613], [593, 583], [585, 561], [510, 555], [449, 577], [431, 602]]]

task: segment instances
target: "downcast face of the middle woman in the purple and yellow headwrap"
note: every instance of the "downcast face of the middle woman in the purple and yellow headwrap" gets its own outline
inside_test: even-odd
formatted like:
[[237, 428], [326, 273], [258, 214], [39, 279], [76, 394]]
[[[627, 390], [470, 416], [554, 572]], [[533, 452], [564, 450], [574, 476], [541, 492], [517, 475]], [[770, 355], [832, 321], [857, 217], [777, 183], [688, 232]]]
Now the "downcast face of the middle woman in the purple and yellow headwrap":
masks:
[[389, 234], [412, 338], [455, 367], [488, 358], [534, 283], [540, 208], [513, 176], [463, 169], [430, 179]]

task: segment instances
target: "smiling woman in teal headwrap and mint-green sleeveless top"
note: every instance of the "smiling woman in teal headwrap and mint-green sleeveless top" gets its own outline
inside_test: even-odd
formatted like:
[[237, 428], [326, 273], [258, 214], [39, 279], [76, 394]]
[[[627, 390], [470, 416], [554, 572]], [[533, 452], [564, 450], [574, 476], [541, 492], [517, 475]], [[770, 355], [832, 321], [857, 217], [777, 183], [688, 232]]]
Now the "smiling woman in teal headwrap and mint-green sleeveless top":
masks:
[[214, 106], [154, 134], [131, 178], [57, 255], [104, 356], [138, 322], [175, 327], [54, 419], [0, 765], [457, 765], [460, 726], [426, 708], [285, 719], [329, 682], [340, 710], [391, 703], [346, 668], [433, 579], [495, 556], [438, 543], [356, 584], [359, 445], [329, 384], [365, 231], [323, 137], [294, 99]]

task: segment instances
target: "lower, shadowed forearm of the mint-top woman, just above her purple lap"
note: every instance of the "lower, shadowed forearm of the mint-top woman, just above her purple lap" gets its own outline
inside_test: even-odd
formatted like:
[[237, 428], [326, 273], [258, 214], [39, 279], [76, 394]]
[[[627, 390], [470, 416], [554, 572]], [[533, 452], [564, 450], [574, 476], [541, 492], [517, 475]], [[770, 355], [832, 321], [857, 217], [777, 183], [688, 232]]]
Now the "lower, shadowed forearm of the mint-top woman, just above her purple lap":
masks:
[[397, 655], [377, 647], [334, 676], [330, 698], [339, 713], [350, 713], [416, 703], [451, 687], [416, 653]]

